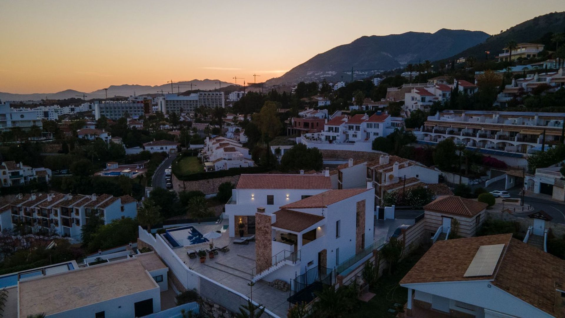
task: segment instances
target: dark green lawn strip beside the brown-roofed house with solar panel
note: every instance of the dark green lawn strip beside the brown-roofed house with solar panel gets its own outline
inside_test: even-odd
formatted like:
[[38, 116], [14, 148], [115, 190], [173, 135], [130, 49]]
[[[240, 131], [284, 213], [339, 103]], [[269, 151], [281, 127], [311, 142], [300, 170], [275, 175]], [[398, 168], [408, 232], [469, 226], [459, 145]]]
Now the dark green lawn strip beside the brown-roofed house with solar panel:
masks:
[[377, 281], [377, 285], [370, 289], [375, 293], [375, 297], [368, 303], [358, 301], [358, 310], [353, 314], [355, 317], [394, 317], [396, 313], [388, 310], [394, 307], [394, 303], [404, 305], [408, 299], [408, 290], [398, 285], [398, 282], [408, 273], [408, 271], [418, 262], [425, 251], [418, 248], [398, 264], [396, 271], [389, 276], [385, 272]]

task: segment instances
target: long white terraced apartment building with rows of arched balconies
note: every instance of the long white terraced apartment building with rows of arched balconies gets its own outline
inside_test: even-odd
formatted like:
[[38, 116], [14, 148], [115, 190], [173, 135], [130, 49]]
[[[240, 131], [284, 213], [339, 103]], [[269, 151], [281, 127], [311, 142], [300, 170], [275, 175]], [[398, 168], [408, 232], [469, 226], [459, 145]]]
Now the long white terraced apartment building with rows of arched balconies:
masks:
[[559, 143], [565, 113], [533, 111], [444, 110], [428, 116], [419, 144], [447, 138], [456, 144], [490, 154], [511, 165], [525, 165], [525, 156]]

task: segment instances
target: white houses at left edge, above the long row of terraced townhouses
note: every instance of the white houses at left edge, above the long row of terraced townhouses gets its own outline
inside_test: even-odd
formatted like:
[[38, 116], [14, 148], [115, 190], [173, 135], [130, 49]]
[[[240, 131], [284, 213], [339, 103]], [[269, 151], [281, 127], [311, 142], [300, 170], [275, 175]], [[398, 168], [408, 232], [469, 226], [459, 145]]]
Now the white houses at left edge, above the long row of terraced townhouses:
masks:
[[21, 162], [4, 161], [0, 164], [0, 179], [2, 179], [2, 187], [23, 186], [31, 181], [49, 182], [51, 169], [32, 168]]

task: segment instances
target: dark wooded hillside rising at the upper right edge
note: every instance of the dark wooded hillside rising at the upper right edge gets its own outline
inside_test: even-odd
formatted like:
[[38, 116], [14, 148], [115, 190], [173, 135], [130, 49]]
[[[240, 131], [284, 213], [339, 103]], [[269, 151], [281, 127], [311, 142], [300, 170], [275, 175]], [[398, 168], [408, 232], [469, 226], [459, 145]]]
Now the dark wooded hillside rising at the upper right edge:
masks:
[[487, 38], [483, 43], [451, 55], [446, 61], [459, 57], [469, 57], [471, 55], [478, 59], [484, 59], [486, 57], [485, 51], [489, 51], [490, 58], [493, 58], [499, 53], [502, 53], [502, 49], [510, 41], [516, 41], [516, 43], [534, 42], [551, 44], [551, 39], [546, 39], [544, 36], [549, 32], [555, 33], [564, 31], [565, 12], [553, 12], [536, 16], [536, 18], [517, 24], [498, 35]]

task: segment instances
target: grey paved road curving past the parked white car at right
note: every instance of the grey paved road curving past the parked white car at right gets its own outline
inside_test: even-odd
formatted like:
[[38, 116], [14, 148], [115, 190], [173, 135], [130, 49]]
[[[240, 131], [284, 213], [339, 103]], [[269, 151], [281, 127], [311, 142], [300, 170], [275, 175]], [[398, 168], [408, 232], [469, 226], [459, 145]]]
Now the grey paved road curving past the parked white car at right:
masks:
[[[490, 186], [486, 187], [486, 190], [493, 191], [493, 190], [504, 190], [504, 181], [497, 181]], [[519, 198], [520, 197], [520, 188], [514, 187], [507, 190], [510, 193], [510, 197], [512, 198]], [[547, 197], [547, 199], [545, 199]], [[547, 195], [539, 195], [539, 194], [526, 194], [524, 196], [524, 204], [525, 205], [532, 205], [534, 211], [537, 212], [539, 210], [543, 210], [551, 217], [553, 220], [551, 222], [565, 224], [565, 204], [559, 203], [557, 201], [549, 200], [549, 196]], [[532, 212], [530, 212], [532, 213]], [[527, 216], [530, 213], [516, 213], [517, 216]]]

